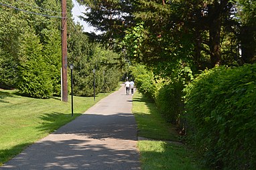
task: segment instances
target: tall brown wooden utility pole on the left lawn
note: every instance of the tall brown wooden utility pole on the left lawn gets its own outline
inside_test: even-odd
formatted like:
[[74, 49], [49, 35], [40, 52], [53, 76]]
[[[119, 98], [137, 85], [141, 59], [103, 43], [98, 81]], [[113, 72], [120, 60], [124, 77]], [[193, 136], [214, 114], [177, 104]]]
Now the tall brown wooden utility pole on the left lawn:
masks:
[[68, 50], [66, 41], [66, 0], [62, 0], [62, 101], [68, 101]]

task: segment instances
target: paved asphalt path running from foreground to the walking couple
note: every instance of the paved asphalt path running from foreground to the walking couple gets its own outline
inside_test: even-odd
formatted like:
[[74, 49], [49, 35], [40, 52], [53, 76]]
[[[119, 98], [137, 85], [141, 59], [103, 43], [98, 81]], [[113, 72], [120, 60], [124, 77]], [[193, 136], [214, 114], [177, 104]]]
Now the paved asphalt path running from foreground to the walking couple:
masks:
[[121, 87], [0, 169], [139, 169], [131, 101]]

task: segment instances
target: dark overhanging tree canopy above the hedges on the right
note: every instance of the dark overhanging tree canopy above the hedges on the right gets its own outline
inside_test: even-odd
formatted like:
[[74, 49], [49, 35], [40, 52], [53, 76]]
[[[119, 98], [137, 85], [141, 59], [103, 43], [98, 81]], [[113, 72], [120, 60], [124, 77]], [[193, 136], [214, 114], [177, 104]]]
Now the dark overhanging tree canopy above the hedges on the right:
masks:
[[182, 59], [197, 69], [255, 61], [255, 1], [79, 2], [88, 7], [84, 21], [102, 31], [97, 39], [117, 47], [113, 43], [125, 37], [118, 47], [131, 60], [150, 65]]

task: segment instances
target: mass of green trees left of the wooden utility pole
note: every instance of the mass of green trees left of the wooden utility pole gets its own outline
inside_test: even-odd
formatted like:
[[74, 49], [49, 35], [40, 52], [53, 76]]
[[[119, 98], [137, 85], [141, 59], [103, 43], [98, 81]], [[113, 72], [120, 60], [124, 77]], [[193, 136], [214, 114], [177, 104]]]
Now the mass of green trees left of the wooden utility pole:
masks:
[[[60, 3], [50, 0], [2, 3], [0, 62], [7, 67], [1, 67], [3, 76], [0, 87], [17, 88], [30, 97], [60, 95], [61, 38], [58, 17], [61, 12], [56, 12], [60, 11]], [[68, 4], [70, 10], [71, 1]]]

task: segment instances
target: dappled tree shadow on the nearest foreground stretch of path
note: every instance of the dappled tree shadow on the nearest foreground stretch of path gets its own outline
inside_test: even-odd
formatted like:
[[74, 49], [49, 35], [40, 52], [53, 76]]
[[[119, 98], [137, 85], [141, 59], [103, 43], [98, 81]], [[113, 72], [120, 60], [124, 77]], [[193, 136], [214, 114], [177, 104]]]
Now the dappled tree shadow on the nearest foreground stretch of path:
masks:
[[[37, 143], [0, 169], [138, 169], [135, 151], [87, 145], [87, 142], [73, 139]], [[35, 151], [40, 154], [27, 155]]]

